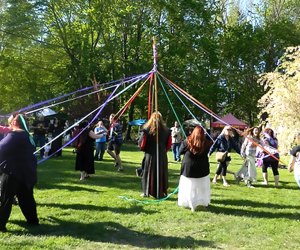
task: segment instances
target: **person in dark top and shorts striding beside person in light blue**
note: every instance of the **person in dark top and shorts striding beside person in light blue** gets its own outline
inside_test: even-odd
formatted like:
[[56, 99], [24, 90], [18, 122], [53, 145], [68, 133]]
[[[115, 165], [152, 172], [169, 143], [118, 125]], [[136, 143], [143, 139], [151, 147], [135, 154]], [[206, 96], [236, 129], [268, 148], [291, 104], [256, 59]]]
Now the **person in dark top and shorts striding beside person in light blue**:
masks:
[[122, 136], [122, 127], [115, 120], [115, 115], [111, 114], [109, 116], [109, 142], [107, 146], [107, 153], [115, 160], [115, 167], [117, 167], [118, 171], [123, 171], [124, 168], [122, 166], [122, 160], [120, 157], [121, 147], [123, 143]]

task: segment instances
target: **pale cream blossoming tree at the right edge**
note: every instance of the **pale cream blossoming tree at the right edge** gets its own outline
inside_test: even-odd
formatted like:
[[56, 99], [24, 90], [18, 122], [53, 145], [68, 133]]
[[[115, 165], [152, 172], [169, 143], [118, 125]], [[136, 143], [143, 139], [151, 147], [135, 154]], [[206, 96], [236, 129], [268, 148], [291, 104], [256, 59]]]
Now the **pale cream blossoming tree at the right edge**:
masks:
[[277, 132], [283, 152], [290, 149], [300, 128], [300, 46], [288, 47], [274, 72], [259, 82], [267, 92], [259, 100], [262, 113], [268, 113], [268, 126]]

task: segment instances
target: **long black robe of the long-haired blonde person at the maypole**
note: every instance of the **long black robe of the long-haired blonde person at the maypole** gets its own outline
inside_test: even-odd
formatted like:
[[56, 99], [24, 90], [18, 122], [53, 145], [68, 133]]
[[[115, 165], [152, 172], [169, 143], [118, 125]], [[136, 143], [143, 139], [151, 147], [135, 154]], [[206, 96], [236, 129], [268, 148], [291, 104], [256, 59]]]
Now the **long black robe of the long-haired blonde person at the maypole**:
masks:
[[[158, 132], [158, 143], [156, 135], [150, 135], [149, 130], [143, 130], [142, 137], [146, 143], [144, 147], [145, 161], [142, 178], [143, 192], [146, 196], [162, 198], [167, 196], [168, 189], [168, 157], [167, 151], [171, 146], [171, 134], [168, 128], [160, 129]], [[157, 196], [157, 145], [158, 145], [158, 169], [159, 169], [159, 192]]]

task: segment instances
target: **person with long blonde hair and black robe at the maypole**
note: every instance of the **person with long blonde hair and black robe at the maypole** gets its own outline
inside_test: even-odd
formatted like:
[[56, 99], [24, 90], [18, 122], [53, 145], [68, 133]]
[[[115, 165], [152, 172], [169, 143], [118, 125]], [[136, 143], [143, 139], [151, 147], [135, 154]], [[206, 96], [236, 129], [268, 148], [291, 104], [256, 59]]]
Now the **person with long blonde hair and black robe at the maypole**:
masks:
[[[171, 141], [171, 131], [165, 125], [162, 115], [159, 112], [154, 112], [144, 125], [139, 142], [141, 150], [145, 152], [142, 176], [143, 193], [141, 196], [148, 197], [151, 195], [157, 199], [167, 196], [167, 152], [171, 148]], [[158, 179], [157, 169], [159, 171]], [[157, 190], [157, 182], [159, 190]]]

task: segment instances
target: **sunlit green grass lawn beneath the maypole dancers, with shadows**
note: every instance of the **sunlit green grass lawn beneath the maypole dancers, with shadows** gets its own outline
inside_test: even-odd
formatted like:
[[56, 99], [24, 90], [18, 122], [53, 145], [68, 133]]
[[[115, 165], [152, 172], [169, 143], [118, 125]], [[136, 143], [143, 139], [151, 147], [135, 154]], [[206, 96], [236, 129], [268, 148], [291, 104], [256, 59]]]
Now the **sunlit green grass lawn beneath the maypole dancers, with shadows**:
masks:
[[[18, 206], [13, 207], [8, 232], [0, 233], [0, 249], [298, 249], [300, 246], [299, 189], [287, 170], [280, 170], [279, 188], [260, 184], [249, 189], [234, 183], [212, 186], [206, 211], [192, 213], [177, 206], [177, 195], [161, 203], [140, 204], [119, 196], [140, 199], [135, 176], [143, 153], [125, 145], [121, 153], [125, 171], [119, 173], [107, 154], [95, 164], [96, 174], [79, 181], [71, 149], [62, 158], [38, 166], [35, 189], [41, 225], [30, 227]], [[241, 159], [233, 154], [229, 167]], [[169, 159], [172, 159], [170, 153]], [[169, 186], [178, 185], [180, 164], [169, 164]], [[211, 157], [211, 175], [216, 162]], [[259, 181], [261, 170], [258, 169]]]

